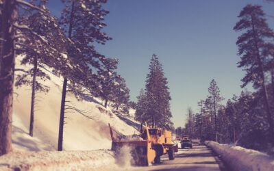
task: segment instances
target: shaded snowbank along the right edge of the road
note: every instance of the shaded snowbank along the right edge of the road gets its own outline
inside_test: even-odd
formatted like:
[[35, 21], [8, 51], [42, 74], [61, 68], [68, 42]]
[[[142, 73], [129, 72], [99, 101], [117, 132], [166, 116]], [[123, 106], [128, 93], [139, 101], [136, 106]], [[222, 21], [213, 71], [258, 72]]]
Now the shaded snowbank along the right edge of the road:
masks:
[[274, 170], [274, 158], [256, 150], [206, 141], [233, 170]]

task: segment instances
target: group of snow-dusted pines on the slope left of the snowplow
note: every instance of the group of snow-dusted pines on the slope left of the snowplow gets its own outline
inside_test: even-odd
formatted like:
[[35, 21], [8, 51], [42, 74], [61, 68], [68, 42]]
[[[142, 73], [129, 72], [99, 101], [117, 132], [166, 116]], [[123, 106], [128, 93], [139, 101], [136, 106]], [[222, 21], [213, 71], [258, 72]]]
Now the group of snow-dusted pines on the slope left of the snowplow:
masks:
[[[128, 112], [129, 89], [116, 71], [119, 61], [97, 52], [95, 44], [111, 40], [102, 29], [109, 13], [106, 0], [62, 0], [59, 18], [52, 16], [47, 0], [0, 0], [0, 155], [11, 150], [13, 85], [31, 86], [29, 135], [34, 135], [36, 92], [48, 92], [49, 71], [63, 80], [58, 150], [62, 150], [66, 109], [91, 118], [82, 109], [66, 104], [66, 95], [79, 100], [96, 96]], [[17, 57], [20, 66], [14, 68]], [[18, 64], [16, 65], [18, 66]], [[16, 74], [15, 74], [16, 72]]]

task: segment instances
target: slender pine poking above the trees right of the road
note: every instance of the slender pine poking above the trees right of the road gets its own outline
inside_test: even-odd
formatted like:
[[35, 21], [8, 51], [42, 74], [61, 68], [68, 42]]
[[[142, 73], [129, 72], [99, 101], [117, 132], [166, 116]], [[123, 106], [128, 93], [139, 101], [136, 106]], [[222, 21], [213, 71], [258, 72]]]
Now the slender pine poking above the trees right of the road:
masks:
[[215, 140], [217, 142], [217, 110], [219, 107], [219, 102], [223, 100], [223, 98], [220, 96], [220, 90], [219, 87], [216, 84], [216, 81], [212, 79], [210, 82], [210, 88], [208, 88], [208, 92], [210, 93], [210, 96], [212, 97], [212, 108], [214, 110], [214, 127], [215, 127]]

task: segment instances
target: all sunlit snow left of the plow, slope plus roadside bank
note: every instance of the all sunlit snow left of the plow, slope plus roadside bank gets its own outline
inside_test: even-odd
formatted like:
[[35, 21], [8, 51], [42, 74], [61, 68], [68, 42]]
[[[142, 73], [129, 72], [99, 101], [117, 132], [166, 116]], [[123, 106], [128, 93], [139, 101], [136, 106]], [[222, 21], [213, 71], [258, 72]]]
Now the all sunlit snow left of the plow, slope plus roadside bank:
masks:
[[133, 119], [134, 110], [131, 109], [129, 115], [113, 113], [110, 107], [105, 109], [101, 105], [103, 102], [99, 98], [88, 96], [86, 100], [79, 101], [73, 94], [67, 93], [66, 105], [86, 111], [92, 119], [66, 110], [64, 151], [57, 152], [62, 78], [47, 73], [51, 77], [45, 82], [50, 87], [49, 92], [36, 94], [34, 137], [28, 135], [31, 88], [14, 88], [13, 152], [0, 157], [0, 170], [121, 170], [109, 150], [111, 137], [108, 123], [114, 134], [132, 135], [138, 129], [138, 122]]

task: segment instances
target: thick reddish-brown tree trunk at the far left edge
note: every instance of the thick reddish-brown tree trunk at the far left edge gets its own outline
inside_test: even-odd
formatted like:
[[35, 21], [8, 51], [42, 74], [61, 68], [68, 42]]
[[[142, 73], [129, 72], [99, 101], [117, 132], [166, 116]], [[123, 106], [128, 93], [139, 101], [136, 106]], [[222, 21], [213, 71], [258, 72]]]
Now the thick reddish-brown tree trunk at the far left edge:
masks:
[[14, 27], [16, 1], [3, 0], [0, 23], [0, 155], [12, 150], [12, 94], [14, 83]]

